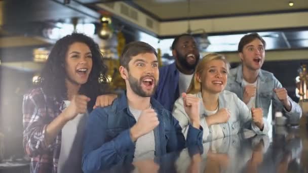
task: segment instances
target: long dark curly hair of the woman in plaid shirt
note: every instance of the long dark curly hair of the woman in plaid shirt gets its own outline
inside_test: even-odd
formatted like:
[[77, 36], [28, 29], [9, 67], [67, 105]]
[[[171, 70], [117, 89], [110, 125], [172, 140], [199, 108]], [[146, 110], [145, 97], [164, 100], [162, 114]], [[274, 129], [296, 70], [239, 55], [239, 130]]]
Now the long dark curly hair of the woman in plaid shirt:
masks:
[[106, 78], [108, 69], [103, 63], [103, 55], [98, 45], [89, 36], [82, 33], [72, 33], [59, 39], [51, 50], [36, 84], [42, 87], [47, 96], [55, 97], [57, 101], [67, 99], [65, 57], [68, 47], [74, 42], [86, 44], [92, 53], [93, 66], [91, 73], [89, 74], [88, 81], [82, 84], [79, 90], [80, 94], [91, 98], [90, 103], [88, 103], [88, 109], [92, 110], [91, 108], [95, 104], [96, 97], [106, 93], [108, 90]]

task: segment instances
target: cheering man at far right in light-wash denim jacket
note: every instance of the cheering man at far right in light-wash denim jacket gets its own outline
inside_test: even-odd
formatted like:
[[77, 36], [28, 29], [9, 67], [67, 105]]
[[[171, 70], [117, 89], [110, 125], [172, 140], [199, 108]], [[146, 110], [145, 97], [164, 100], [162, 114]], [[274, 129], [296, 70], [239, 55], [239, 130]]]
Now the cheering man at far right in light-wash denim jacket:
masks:
[[257, 33], [243, 36], [238, 52], [242, 64], [231, 69], [226, 90], [234, 92], [249, 108], [260, 107], [269, 123], [274, 110], [284, 112], [291, 124], [297, 124], [302, 110], [295, 103], [273, 73], [262, 70], [265, 41]]

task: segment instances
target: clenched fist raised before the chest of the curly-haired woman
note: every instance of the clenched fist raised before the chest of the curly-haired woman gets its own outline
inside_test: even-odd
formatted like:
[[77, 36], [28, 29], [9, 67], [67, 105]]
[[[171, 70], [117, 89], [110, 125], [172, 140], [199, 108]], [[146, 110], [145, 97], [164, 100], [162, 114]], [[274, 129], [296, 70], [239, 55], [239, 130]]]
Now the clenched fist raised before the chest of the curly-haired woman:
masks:
[[70, 101], [69, 106], [63, 111], [65, 120], [69, 121], [80, 113], [86, 113], [89, 101], [90, 98], [85, 95], [74, 95]]

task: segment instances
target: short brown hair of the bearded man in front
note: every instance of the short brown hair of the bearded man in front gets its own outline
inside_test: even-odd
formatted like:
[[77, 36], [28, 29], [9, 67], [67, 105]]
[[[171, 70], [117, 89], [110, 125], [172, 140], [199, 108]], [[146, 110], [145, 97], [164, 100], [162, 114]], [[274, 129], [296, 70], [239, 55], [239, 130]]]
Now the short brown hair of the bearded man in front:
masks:
[[128, 69], [128, 63], [131, 61], [131, 58], [139, 54], [152, 53], [157, 57], [156, 50], [142, 41], [133, 41], [125, 45], [122, 55], [120, 57], [120, 65]]

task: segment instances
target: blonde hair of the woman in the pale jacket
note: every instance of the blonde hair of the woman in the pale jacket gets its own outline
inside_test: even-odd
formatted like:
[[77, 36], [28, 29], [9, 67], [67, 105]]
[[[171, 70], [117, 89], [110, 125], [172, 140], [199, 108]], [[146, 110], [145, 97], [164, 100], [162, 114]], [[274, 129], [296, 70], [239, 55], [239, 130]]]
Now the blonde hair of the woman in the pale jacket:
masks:
[[196, 94], [201, 92], [201, 82], [198, 81], [196, 74], [198, 73], [199, 75], [201, 75], [206, 64], [213, 60], [223, 61], [226, 65], [227, 72], [229, 73], [230, 64], [223, 55], [216, 53], [207, 54], [202, 58], [202, 60], [199, 61], [199, 63], [196, 66], [195, 73], [187, 89], [188, 94]]

